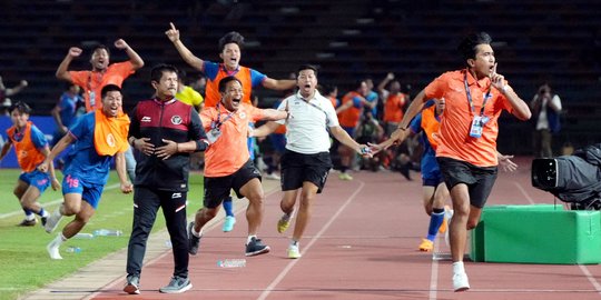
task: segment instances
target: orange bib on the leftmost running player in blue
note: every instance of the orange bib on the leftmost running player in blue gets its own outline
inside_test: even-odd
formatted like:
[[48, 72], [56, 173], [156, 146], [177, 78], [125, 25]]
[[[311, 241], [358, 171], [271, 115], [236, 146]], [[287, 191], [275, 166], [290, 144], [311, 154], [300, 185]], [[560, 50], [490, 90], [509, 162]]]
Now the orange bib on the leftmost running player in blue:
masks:
[[27, 173], [36, 170], [38, 164], [46, 159], [46, 156], [40, 149], [36, 148], [36, 144], [33, 144], [33, 141], [31, 140], [31, 122], [27, 122], [23, 130], [23, 138], [20, 141], [13, 139], [17, 128], [11, 127], [7, 130], [8, 137], [14, 146], [19, 167]]

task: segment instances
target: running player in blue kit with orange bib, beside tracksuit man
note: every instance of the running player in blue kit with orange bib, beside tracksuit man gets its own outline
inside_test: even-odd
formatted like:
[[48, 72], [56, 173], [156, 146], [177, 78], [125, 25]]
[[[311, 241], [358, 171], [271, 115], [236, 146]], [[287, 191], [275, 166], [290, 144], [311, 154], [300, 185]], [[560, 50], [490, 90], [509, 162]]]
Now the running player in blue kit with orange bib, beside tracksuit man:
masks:
[[62, 259], [59, 252], [60, 244], [77, 234], [93, 216], [108, 180], [112, 157], [121, 191], [129, 193], [132, 190], [127, 179], [124, 157], [129, 147], [127, 142], [129, 118], [121, 110], [121, 89], [108, 84], [102, 88], [101, 98], [102, 108], [79, 118], [38, 167], [40, 171], [46, 172], [50, 162], [73, 143], [63, 169], [65, 201], [48, 218], [46, 231], [52, 232], [62, 216], [75, 214], [76, 218], [47, 246], [51, 259]]

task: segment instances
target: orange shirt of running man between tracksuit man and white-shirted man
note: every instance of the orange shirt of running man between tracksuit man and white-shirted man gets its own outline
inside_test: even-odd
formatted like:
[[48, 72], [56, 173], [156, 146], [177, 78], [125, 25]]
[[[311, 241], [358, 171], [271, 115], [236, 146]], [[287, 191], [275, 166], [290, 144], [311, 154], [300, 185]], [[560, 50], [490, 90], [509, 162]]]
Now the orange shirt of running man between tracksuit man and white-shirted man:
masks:
[[[226, 120], [228, 116], [231, 117]], [[247, 103], [240, 103], [238, 111], [233, 114], [223, 104], [203, 109], [200, 120], [207, 133], [211, 130], [211, 126], [217, 122], [217, 119], [223, 122], [219, 128], [221, 134], [205, 151], [206, 177], [233, 174], [250, 159], [246, 144], [248, 123], [263, 119], [263, 116], [262, 109]]]

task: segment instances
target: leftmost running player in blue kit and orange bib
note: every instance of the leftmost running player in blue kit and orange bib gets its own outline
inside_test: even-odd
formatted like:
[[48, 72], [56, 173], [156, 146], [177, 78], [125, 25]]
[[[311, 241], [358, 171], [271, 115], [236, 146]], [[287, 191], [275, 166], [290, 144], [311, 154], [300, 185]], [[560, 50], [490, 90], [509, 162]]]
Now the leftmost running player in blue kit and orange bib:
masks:
[[55, 168], [50, 164], [50, 174], [40, 172], [37, 167], [50, 153], [48, 141], [43, 133], [29, 121], [31, 108], [23, 102], [17, 102], [9, 109], [12, 127], [7, 130], [8, 139], [0, 150], [0, 161], [14, 147], [19, 167], [22, 173], [19, 176], [13, 193], [21, 203], [26, 218], [19, 226], [35, 226], [36, 214], [40, 216], [42, 226], [46, 223], [48, 212], [38, 202], [43, 191], [52, 184], [52, 189], [60, 188], [55, 176]]

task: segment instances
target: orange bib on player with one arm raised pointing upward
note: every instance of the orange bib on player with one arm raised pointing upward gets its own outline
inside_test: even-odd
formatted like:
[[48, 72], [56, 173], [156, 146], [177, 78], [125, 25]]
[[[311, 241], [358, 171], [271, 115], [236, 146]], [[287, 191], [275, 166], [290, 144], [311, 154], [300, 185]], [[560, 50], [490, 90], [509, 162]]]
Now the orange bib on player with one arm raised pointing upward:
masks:
[[[250, 102], [250, 93], [253, 92], [253, 80], [250, 77], [250, 68], [246, 67], [238, 67], [238, 72], [235, 74], [228, 73], [225, 69], [223, 63], [219, 63], [219, 71], [217, 72], [217, 76], [215, 79], [207, 79], [207, 87], [205, 91], [205, 108], [213, 108], [217, 106], [217, 103], [221, 100], [221, 94], [219, 93], [219, 81], [221, 79], [234, 76], [236, 79], [238, 79], [242, 82], [243, 86], [243, 102], [252, 104]], [[246, 161], [245, 161], [246, 162]]]

